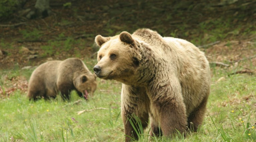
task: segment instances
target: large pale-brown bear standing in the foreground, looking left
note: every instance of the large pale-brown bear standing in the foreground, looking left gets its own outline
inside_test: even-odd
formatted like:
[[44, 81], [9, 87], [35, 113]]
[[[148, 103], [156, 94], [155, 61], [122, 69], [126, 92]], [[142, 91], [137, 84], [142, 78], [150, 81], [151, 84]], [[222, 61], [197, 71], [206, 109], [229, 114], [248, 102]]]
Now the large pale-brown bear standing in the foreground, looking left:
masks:
[[94, 73], [122, 83], [125, 141], [138, 139], [127, 121], [134, 114], [144, 129], [151, 118], [152, 136], [172, 136], [176, 130], [184, 133], [187, 128], [196, 131], [202, 124], [210, 93], [210, 67], [195, 45], [162, 37], [150, 29], [139, 29], [132, 35], [97, 35], [95, 42], [100, 49]]

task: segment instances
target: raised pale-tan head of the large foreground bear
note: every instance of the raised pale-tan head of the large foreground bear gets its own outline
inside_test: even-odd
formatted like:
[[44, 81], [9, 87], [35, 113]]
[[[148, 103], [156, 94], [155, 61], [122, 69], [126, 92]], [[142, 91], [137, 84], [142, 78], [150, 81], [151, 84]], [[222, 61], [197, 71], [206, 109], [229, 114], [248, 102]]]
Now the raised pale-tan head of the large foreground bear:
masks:
[[130, 33], [122, 32], [113, 37], [97, 35], [95, 42], [100, 46], [98, 63], [93, 68], [97, 77], [123, 83], [133, 78], [141, 53], [139, 42]]

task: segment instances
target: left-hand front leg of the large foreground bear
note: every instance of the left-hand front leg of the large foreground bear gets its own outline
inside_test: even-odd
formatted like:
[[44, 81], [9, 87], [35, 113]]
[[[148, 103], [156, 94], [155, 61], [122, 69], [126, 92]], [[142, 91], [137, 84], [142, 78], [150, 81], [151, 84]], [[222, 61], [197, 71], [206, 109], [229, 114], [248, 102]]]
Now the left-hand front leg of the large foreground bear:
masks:
[[[139, 136], [136, 131], [142, 132], [148, 126], [149, 102], [145, 89], [122, 85], [121, 114], [126, 142], [132, 141], [133, 139], [138, 140]], [[140, 119], [143, 130], [140, 130], [141, 127], [136, 122], [136, 116]], [[132, 120], [136, 130], [129, 119]]]

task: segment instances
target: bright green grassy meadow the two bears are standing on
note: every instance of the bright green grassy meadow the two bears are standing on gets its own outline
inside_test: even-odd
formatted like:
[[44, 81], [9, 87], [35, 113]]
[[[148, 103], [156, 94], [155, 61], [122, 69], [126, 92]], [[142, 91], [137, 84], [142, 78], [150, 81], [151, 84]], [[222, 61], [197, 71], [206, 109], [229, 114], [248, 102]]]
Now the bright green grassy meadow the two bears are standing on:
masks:
[[[91, 70], [95, 60], [86, 59]], [[256, 76], [230, 75], [234, 70], [212, 67], [211, 95], [202, 127], [187, 137], [173, 139], [152, 137], [152, 141], [255, 141]], [[1, 71], [9, 77], [25, 76], [32, 70], [17, 68]], [[218, 81], [224, 77], [224, 80]], [[4, 78], [1, 85], [4, 85]], [[124, 127], [120, 117], [121, 83], [97, 79], [94, 97], [88, 101], [71, 93], [70, 101], [60, 96], [55, 100], [30, 102], [24, 92], [15, 91], [0, 100], [0, 141], [123, 141]], [[79, 101], [76, 103], [76, 101]], [[94, 109], [104, 107], [107, 109]], [[77, 111], [93, 109], [80, 115]], [[136, 118], [136, 117], [135, 117]], [[131, 123], [140, 120], [130, 120]], [[140, 123], [139, 123], [140, 124]], [[135, 127], [137, 125], [134, 125]], [[138, 125], [140, 127], [140, 125]], [[137, 131], [139, 141], [148, 141], [150, 128]]]

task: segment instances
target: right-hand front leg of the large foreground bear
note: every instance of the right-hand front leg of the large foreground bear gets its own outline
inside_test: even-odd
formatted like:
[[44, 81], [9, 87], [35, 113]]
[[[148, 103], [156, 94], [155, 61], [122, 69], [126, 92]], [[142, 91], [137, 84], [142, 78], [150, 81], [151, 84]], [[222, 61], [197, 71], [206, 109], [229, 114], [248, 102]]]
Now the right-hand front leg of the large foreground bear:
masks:
[[154, 80], [149, 84], [147, 92], [151, 100], [151, 134], [172, 137], [177, 130], [184, 133], [187, 113], [178, 78], [169, 76], [166, 79]]

